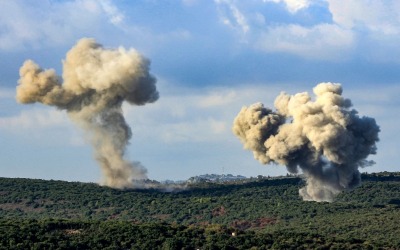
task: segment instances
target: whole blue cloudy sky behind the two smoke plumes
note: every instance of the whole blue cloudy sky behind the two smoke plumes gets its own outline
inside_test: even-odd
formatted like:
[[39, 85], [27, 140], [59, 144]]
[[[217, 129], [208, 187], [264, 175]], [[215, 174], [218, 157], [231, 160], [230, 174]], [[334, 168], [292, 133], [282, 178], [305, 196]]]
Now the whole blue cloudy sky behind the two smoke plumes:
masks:
[[360, 116], [381, 127], [374, 166], [400, 171], [398, 0], [0, 0], [0, 176], [97, 182], [82, 131], [64, 111], [15, 101], [32, 59], [62, 74], [82, 37], [151, 60], [160, 99], [124, 105], [127, 158], [151, 179], [205, 173], [285, 174], [243, 150], [231, 132], [242, 106], [341, 83]]

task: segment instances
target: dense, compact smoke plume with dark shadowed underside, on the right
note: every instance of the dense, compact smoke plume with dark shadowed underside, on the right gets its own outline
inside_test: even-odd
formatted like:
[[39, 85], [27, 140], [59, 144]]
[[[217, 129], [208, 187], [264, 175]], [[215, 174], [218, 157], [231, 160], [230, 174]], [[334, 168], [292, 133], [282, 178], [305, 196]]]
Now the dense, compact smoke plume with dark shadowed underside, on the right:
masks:
[[346, 189], [360, 184], [359, 167], [372, 162], [379, 126], [375, 119], [359, 117], [351, 101], [343, 98], [340, 84], [320, 83], [308, 93], [281, 93], [276, 111], [256, 103], [243, 107], [233, 133], [245, 149], [263, 164], [285, 165], [290, 173], [301, 169], [307, 185], [304, 200], [333, 201]]

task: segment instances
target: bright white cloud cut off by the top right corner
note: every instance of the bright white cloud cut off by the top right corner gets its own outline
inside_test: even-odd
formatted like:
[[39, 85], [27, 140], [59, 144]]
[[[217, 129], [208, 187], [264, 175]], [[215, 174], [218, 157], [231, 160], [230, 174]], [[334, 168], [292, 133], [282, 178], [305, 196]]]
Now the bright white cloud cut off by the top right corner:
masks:
[[357, 35], [362, 56], [374, 62], [399, 62], [400, 1], [327, 0], [333, 21]]

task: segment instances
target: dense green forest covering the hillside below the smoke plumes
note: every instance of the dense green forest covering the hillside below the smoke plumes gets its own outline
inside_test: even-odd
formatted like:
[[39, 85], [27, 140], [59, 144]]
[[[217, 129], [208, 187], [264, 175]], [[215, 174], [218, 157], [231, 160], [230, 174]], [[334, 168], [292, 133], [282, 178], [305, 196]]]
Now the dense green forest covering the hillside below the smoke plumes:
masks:
[[400, 249], [400, 173], [332, 203], [298, 177], [176, 190], [0, 178], [0, 249]]

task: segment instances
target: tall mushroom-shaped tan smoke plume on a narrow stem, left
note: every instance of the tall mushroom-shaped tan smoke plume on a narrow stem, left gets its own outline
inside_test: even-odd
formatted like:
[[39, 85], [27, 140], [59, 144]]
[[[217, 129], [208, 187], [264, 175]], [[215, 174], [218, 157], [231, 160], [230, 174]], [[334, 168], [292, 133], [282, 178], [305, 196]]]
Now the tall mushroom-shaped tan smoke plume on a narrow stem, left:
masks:
[[133, 49], [105, 49], [94, 39], [78, 41], [63, 61], [62, 79], [31, 60], [20, 69], [17, 101], [40, 102], [66, 110], [94, 147], [104, 185], [133, 187], [146, 179], [140, 163], [124, 159], [131, 130], [121, 105], [155, 102], [159, 95], [150, 62]]

